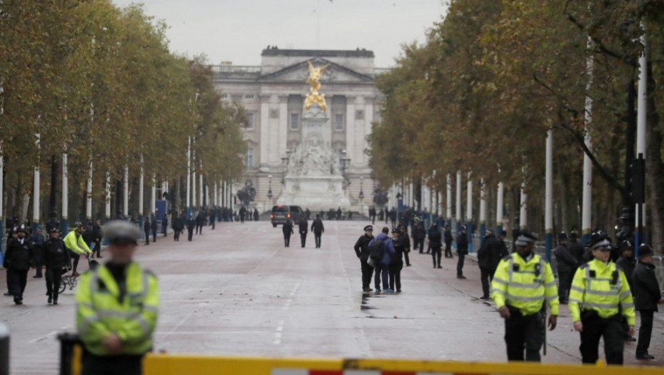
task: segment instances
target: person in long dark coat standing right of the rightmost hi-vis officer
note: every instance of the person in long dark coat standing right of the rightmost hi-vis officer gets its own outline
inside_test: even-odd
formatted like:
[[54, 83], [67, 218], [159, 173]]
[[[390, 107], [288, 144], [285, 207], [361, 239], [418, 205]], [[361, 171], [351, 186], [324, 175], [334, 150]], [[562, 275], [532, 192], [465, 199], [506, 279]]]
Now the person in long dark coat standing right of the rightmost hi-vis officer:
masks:
[[658, 304], [663, 304], [662, 292], [659, 282], [655, 277], [655, 265], [653, 264], [653, 249], [648, 245], [638, 248], [638, 264], [636, 264], [632, 283], [634, 294], [634, 308], [641, 315], [641, 327], [638, 333], [638, 344], [636, 346], [637, 359], [655, 359], [648, 354], [650, 336], [653, 334], [653, 315], [658, 311]]

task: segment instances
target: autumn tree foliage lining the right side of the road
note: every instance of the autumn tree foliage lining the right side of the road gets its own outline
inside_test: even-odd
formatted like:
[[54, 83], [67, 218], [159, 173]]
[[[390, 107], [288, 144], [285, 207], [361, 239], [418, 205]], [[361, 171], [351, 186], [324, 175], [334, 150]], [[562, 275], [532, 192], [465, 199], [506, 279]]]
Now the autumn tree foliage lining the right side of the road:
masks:
[[[648, 66], [639, 66], [644, 32]], [[593, 228], [613, 232], [628, 181], [630, 90], [647, 69], [648, 226], [662, 249], [663, 68], [660, 1], [453, 0], [426, 43], [404, 46], [396, 68], [377, 79], [386, 101], [383, 122], [369, 137], [371, 166], [383, 186], [409, 179], [445, 191], [447, 174], [454, 184], [461, 170], [464, 180], [468, 172], [483, 178], [491, 198], [503, 181], [512, 219], [524, 184], [528, 226], [543, 233], [545, 138], [552, 129], [555, 229], [581, 229], [585, 153], [595, 175]], [[495, 216], [488, 220], [495, 224]]]

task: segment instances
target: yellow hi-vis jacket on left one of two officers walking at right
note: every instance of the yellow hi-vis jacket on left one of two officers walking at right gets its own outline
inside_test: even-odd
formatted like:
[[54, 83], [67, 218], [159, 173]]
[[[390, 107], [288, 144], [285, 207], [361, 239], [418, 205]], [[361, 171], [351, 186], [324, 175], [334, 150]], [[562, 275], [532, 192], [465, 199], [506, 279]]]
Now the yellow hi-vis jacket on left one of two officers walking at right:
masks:
[[541, 311], [545, 299], [551, 314], [558, 315], [560, 304], [550, 264], [538, 254], [533, 254], [526, 262], [516, 252], [505, 256], [498, 264], [491, 283], [491, 299], [498, 309], [507, 304], [523, 315]]

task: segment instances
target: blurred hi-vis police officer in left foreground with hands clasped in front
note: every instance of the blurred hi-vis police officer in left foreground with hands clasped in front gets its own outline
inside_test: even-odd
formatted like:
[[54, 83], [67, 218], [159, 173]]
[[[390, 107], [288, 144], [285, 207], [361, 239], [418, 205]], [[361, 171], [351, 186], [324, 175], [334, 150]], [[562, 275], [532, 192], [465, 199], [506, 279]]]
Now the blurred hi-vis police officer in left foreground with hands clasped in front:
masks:
[[139, 375], [152, 349], [159, 286], [154, 274], [132, 261], [140, 236], [126, 221], [106, 224], [111, 260], [81, 277], [76, 327], [84, 346], [82, 375]]

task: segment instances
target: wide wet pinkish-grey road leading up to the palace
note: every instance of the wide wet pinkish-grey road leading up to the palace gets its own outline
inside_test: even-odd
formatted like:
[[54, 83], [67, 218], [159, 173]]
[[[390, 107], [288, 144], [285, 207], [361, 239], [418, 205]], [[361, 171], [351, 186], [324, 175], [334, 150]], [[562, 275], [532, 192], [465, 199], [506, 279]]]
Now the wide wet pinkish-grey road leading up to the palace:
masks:
[[[431, 256], [411, 253], [401, 294], [363, 294], [353, 245], [366, 223], [325, 221], [321, 249], [313, 234], [284, 248], [281, 227], [226, 223], [193, 242], [172, 235], [140, 246], [136, 259], [159, 276], [161, 314], [156, 351], [191, 354], [323, 356], [505, 361], [503, 321], [479, 300], [479, 270], [456, 258], [433, 269]], [[381, 224], [376, 225], [379, 230]], [[105, 255], [105, 254], [104, 254]], [[107, 259], [107, 258], [105, 258]], [[104, 260], [105, 260], [104, 259]], [[81, 261], [86, 269], [85, 261]], [[11, 374], [56, 374], [57, 332], [74, 329], [74, 291], [46, 304], [43, 279], [32, 279], [25, 304], [0, 297], [0, 319], [12, 330]], [[0, 279], [4, 286], [4, 271]], [[578, 334], [566, 306], [548, 335], [548, 363], [579, 363]], [[664, 322], [655, 321], [650, 353], [664, 364]], [[625, 363], [636, 345], [627, 344]]]

